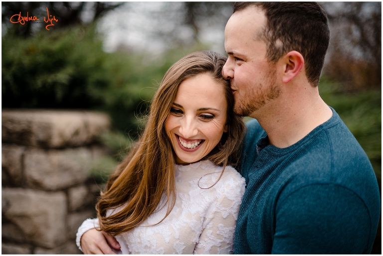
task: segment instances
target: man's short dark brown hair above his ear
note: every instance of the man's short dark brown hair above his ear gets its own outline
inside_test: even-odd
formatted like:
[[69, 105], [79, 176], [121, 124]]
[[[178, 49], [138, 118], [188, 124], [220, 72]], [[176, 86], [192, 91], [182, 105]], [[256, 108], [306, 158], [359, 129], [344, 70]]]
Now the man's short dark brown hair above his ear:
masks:
[[325, 11], [317, 2], [235, 2], [233, 13], [250, 6], [265, 12], [267, 24], [257, 35], [267, 44], [267, 59], [275, 63], [295, 50], [305, 60], [306, 77], [317, 86], [330, 41]]

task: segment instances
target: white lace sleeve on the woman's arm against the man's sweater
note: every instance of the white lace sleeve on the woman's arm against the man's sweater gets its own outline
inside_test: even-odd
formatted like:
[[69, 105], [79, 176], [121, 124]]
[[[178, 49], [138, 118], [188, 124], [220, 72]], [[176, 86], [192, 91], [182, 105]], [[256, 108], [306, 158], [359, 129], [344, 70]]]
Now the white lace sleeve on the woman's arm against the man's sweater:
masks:
[[221, 197], [217, 198], [214, 209], [206, 214], [207, 218], [194, 254], [234, 253], [235, 224], [245, 192], [245, 180], [240, 178], [238, 183], [226, 184], [219, 189]]

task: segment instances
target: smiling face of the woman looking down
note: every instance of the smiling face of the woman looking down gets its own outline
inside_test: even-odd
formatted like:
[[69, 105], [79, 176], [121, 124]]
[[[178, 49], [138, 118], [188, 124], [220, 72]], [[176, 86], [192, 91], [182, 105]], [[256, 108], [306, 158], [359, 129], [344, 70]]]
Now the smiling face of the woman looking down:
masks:
[[177, 163], [199, 161], [227, 131], [223, 87], [209, 74], [196, 75], [180, 84], [165, 124]]

